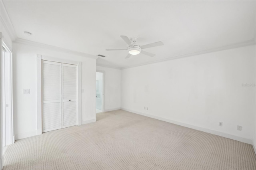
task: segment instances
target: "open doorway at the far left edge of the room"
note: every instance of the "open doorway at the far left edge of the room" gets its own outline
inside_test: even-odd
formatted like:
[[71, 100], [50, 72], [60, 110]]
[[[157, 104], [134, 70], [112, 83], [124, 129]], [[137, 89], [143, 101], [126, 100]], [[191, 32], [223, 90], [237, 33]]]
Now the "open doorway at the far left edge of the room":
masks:
[[12, 53], [4, 43], [2, 51], [2, 106], [2, 145], [5, 147], [14, 143], [14, 136], [12, 119]]

